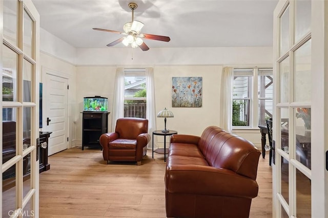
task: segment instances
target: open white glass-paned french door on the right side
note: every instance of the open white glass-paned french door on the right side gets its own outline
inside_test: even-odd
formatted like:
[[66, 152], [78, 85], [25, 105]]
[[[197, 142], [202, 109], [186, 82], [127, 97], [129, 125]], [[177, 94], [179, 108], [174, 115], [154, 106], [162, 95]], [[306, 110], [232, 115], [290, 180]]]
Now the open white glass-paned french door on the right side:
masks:
[[274, 11], [273, 217], [328, 216], [327, 8], [280, 0]]

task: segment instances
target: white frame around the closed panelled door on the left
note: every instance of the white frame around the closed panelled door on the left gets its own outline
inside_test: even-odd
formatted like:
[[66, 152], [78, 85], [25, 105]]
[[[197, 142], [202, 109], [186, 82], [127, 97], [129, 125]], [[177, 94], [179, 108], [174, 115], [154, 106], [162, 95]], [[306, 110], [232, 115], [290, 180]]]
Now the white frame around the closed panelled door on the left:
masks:
[[[72, 78], [71, 76], [67, 75], [67, 74], [64, 74], [64, 73], [61, 73], [59, 71], [56, 71], [56, 70], [52, 70], [50, 68], [47, 68], [47, 67], [44, 67], [42, 66], [42, 83], [44, 84], [43, 85], [43, 89], [45, 90], [46, 87], [47, 87], [47, 74], [49, 75], [52, 75], [52, 76], [57, 76], [57, 77], [61, 77], [61, 78], [64, 78], [64, 79], [67, 79], [68, 80], [68, 84], [70, 84]], [[45, 91], [43, 92], [44, 94], [46, 93]], [[70, 99], [73, 99], [71, 96], [70, 96], [71, 92], [70, 92], [70, 89], [67, 90], [67, 129], [69, 130], [68, 131], [68, 138], [69, 138], [69, 141], [68, 141], [68, 145], [67, 145], [67, 149], [69, 148], [72, 148], [75, 146], [75, 139], [72, 139], [72, 133], [73, 133], [73, 130], [71, 129], [72, 128], [72, 125], [71, 125], [71, 110], [72, 110], [72, 104], [70, 104]], [[45, 99], [45, 98], [44, 98]], [[45, 102], [44, 104], [46, 104], [48, 102]], [[42, 114], [43, 114], [43, 117], [47, 117], [48, 114], [46, 114], [46, 111], [45, 111], [45, 107], [42, 108]], [[43, 121], [42, 121], [42, 124], [43, 126], [46, 126], [46, 122], [45, 122], [45, 119], [43, 118]], [[51, 137], [51, 136], [50, 136]]]

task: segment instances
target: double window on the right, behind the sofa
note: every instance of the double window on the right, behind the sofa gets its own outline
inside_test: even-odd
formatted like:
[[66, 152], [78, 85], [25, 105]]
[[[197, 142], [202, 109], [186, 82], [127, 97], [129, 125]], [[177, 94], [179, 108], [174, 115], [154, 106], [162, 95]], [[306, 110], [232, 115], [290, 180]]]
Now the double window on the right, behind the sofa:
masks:
[[[257, 127], [272, 118], [272, 69], [234, 69], [232, 125]], [[257, 79], [256, 79], [257, 78]]]

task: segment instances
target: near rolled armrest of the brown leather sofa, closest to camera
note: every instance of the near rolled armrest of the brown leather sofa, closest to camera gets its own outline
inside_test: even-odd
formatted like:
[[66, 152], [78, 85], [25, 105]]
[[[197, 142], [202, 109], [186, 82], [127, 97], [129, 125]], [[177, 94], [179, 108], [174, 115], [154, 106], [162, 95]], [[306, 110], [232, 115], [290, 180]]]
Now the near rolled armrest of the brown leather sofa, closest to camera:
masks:
[[242, 198], [255, 198], [258, 193], [255, 180], [228, 169], [199, 165], [167, 166], [165, 188], [170, 193]]

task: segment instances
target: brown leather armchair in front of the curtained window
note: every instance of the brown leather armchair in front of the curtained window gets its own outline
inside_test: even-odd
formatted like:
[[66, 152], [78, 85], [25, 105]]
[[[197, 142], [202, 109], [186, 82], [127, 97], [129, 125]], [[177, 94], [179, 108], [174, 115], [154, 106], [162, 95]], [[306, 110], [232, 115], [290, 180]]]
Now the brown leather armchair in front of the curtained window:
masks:
[[103, 146], [104, 160], [107, 161], [136, 161], [141, 165], [141, 159], [147, 154], [148, 120], [142, 118], [119, 118], [116, 121], [114, 133], [100, 136]]

